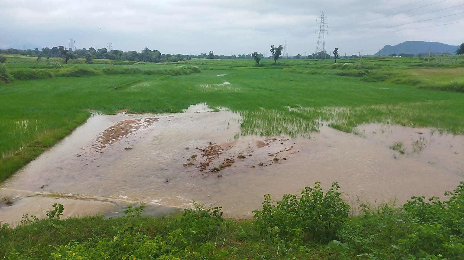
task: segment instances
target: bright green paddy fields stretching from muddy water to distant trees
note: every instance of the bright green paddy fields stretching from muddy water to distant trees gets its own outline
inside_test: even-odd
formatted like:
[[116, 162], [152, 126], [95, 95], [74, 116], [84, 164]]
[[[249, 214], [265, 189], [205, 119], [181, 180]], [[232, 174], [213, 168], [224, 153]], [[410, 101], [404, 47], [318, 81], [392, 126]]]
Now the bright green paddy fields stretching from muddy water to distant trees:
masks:
[[[260, 67], [253, 60], [71, 62], [51, 68], [45, 58], [7, 56], [10, 73], [25, 80], [0, 85], [0, 181], [83, 124], [90, 111], [180, 112], [206, 102], [241, 113], [243, 135], [307, 136], [321, 121], [347, 132], [377, 122], [464, 134], [464, 94], [456, 93], [464, 86], [464, 59], [457, 56], [262, 60]], [[39, 79], [27, 80], [31, 75]]]

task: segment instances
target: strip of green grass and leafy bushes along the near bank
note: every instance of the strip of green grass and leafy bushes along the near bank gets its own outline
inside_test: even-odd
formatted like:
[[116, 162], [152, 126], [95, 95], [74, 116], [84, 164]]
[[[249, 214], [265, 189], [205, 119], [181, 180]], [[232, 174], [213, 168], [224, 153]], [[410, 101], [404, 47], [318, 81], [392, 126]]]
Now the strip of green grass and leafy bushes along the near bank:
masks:
[[252, 220], [222, 217], [221, 207], [195, 208], [163, 218], [129, 206], [124, 217], [60, 219], [25, 214], [15, 229], [0, 229], [3, 259], [436, 259], [464, 255], [464, 182], [446, 200], [412, 197], [402, 207], [360, 203], [359, 215], [337, 183], [316, 182], [299, 196], [273, 203], [264, 196]]

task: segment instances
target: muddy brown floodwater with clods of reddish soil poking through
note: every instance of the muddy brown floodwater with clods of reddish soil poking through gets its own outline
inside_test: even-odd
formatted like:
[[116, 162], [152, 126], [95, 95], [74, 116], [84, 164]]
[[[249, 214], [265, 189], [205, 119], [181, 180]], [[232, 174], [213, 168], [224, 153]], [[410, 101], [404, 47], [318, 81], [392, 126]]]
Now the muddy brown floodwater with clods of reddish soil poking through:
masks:
[[[315, 181], [324, 188], [338, 181], [356, 205], [357, 197], [443, 198], [464, 180], [464, 136], [378, 124], [359, 126], [359, 135], [323, 124], [309, 139], [239, 136], [240, 120], [202, 105], [179, 114], [93, 115], [1, 184], [0, 196], [13, 205], [0, 205], [0, 221], [43, 217], [55, 202], [68, 217], [117, 215], [140, 202], [161, 214], [193, 200], [248, 218], [264, 194], [281, 198]], [[404, 154], [390, 148], [395, 142]]]

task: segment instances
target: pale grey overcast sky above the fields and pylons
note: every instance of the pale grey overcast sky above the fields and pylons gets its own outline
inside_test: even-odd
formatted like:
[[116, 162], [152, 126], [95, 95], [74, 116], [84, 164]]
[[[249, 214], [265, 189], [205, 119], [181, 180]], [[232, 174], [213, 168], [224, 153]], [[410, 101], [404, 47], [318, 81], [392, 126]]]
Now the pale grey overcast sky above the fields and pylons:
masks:
[[[169, 54], [374, 54], [404, 41], [464, 42], [463, 0], [1, 0], [0, 49], [57, 45]], [[427, 27], [427, 28], [423, 28]], [[412, 29], [412, 30], [409, 30]]]

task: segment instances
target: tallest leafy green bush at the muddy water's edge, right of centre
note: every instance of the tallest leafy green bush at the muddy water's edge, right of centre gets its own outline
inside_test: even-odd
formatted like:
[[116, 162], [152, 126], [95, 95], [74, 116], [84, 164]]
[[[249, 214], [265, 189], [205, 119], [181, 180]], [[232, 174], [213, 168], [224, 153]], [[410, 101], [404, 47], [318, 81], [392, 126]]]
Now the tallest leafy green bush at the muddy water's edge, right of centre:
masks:
[[269, 194], [264, 195], [263, 208], [255, 210], [256, 227], [266, 239], [277, 232], [280, 239], [298, 244], [301, 240], [329, 242], [348, 218], [350, 206], [340, 198], [336, 182], [325, 194], [320, 182], [306, 186], [301, 197], [286, 194], [273, 204]]

